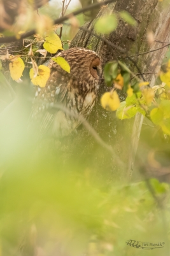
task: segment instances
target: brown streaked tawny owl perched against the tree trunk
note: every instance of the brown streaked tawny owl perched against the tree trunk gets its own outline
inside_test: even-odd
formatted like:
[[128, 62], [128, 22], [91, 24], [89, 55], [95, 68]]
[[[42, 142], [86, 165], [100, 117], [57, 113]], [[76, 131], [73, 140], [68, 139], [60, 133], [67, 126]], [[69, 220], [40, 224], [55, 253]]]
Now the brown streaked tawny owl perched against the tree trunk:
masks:
[[[32, 106], [31, 122], [36, 124], [39, 136], [49, 134], [56, 138], [69, 135], [81, 122], [75, 118], [80, 113], [83, 117], [92, 111], [99, 89], [101, 64], [96, 52], [85, 48], [71, 48], [56, 55], [69, 63], [70, 73], [50, 60], [50, 78], [45, 88], [38, 88], [36, 100]], [[46, 108], [45, 103], [50, 103]], [[73, 116], [64, 110], [53, 108], [60, 103]]]

